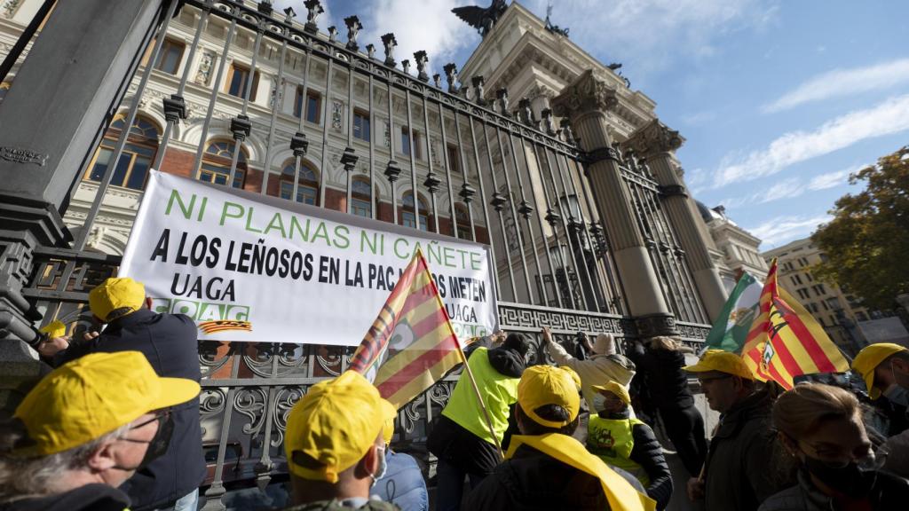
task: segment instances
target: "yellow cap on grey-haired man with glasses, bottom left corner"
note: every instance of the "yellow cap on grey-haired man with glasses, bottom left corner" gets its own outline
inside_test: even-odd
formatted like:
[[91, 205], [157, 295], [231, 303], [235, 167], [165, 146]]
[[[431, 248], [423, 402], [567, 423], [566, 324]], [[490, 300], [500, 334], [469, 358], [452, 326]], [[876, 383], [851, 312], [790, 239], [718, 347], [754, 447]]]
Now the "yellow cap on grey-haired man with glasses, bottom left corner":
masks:
[[138, 351], [86, 355], [45, 376], [16, 407], [28, 439], [14, 454], [63, 452], [198, 394], [193, 380], [157, 376]]

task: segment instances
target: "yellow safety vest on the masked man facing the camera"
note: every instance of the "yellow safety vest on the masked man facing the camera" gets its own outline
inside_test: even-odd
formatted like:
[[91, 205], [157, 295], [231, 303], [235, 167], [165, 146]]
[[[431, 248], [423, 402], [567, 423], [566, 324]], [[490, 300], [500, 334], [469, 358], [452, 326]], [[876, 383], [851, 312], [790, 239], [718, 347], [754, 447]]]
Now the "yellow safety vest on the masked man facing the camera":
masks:
[[592, 415], [587, 421], [587, 449], [607, 464], [630, 472], [646, 487], [650, 477], [643, 466], [629, 457], [634, 448], [632, 429], [638, 424], [644, 423], [635, 418], [604, 419]]

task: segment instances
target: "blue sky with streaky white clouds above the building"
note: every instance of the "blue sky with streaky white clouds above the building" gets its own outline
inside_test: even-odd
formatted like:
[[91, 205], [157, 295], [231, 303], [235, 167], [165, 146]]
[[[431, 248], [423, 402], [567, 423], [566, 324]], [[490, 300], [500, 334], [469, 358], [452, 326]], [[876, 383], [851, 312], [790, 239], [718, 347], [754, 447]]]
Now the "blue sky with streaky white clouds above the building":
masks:
[[[450, 13], [488, 0], [323, 1], [325, 27], [347, 15], [361, 45], [395, 32], [398, 55], [462, 65], [479, 36]], [[706, 205], [764, 239], [809, 235], [859, 186], [849, 172], [907, 141], [909, 2], [903, 0], [552, 0], [553, 21], [687, 139], [685, 178]], [[543, 17], [547, 0], [522, 4]], [[305, 16], [299, 1], [294, 5]], [[404, 58], [404, 56], [399, 56]]]

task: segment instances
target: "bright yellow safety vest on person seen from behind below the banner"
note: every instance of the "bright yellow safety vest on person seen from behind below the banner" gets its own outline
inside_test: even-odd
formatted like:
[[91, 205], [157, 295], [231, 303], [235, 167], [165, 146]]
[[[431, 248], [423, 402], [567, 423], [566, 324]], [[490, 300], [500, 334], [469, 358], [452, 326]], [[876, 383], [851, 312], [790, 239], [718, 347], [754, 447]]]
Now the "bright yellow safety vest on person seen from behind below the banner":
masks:
[[466, 372], [454, 386], [454, 392], [448, 398], [442, 415], [490, 444], [501, 443], [505, 429], [508, 429], [508, 406], [517, 401], [517, 384], [521, 379], [504, 376], [496, 371], [489, 363], [489, 352], [484, 347], [476, 348], [467, 364], [474, 373], [476, 386], [480, 388], [480, 395], [489, 410], [498, 442], [489, 433], [483, 410], [476, 402], [476, 393], [467, 380]]

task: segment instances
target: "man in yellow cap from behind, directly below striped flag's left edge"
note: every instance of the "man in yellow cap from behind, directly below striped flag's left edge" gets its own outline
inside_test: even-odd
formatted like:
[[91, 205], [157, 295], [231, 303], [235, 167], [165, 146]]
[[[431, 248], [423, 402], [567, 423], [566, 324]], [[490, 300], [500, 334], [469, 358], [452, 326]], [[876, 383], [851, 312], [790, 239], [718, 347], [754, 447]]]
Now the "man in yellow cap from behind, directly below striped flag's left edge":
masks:
[[395, 407], [354, 371], [310, 387], [287, 417], [285, 453], [294, 491], [288, 511], [396, 506], [370, 499], [385, 476], [385, 422]]

